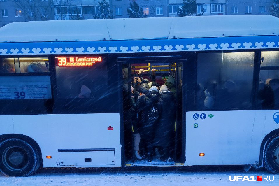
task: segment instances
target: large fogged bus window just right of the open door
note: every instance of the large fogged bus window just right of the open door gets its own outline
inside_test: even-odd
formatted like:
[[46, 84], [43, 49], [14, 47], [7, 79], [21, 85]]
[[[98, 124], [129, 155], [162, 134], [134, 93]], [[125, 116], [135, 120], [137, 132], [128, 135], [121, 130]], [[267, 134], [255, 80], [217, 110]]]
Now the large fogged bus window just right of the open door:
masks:
[[[236, 110], [252, 106], [254, 52], [199, 53], [197, 110]], [[201, 101], [204, 101], [201, 104]]]

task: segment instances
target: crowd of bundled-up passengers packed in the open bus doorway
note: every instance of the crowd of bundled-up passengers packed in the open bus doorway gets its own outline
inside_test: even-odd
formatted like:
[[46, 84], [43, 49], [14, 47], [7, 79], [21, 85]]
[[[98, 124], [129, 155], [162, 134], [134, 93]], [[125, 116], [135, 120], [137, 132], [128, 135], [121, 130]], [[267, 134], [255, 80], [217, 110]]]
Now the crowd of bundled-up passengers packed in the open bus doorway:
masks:
[[[131, 96], [126, 102], [126, 122], [131, 124], [134, 136], [134, 157], [153, 160], [155, 148], [162, 161], [173, 161], [174, 128], [176, 122], [176, 81], [164, 78], [164, 85], [155, 82], [155, 69], [150, 80], [143, 79], [143, 69], [131, 78], [131, 88], [124, 85], [124, 93]], [[125, 95], [124, 95], [125, 96]], [[140, 151], [141, 146], [141, 151]]]

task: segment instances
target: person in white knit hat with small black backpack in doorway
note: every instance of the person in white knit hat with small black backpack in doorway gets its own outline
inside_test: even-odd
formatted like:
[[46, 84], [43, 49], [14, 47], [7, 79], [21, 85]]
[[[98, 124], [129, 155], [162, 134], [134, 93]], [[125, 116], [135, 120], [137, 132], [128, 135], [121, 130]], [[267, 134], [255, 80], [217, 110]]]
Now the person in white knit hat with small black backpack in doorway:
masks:
[[144, 121], [143, 126], [141, 127], [141, 144], [144, 148], [144, 151], [147, 155], [148, 161], [153, 159], [153, 141], [154, 141], [154, 123], [156, 119], [150, 118], [150, 110], [156, 108], [157, 101], [159, 99], [159, 92], [156, 86], [153, 86], [149, 89], [149, 92], [146, 94], [148, 99], [148, 104], [145, 104], [145, 111], [147, 111], [147, 118]]

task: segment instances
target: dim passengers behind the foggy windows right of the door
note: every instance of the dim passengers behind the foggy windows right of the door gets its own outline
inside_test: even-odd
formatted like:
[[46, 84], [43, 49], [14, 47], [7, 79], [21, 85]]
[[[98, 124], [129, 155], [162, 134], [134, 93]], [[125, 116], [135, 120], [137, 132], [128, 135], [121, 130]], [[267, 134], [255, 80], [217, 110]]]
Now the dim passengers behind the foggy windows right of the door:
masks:
[[[239, 85], [227, 80], [219, 85], [211, 81], [206, 86], [196, 86], [196, 106], [199, 110], [251, 108], [250, 92], [247, 85]], [[248, 89], [249, 90], [249, 89]], [[257, 108], [276, 109], [279, 107], [279, 80], [269, 78], [260, 80], [257, 94]]]

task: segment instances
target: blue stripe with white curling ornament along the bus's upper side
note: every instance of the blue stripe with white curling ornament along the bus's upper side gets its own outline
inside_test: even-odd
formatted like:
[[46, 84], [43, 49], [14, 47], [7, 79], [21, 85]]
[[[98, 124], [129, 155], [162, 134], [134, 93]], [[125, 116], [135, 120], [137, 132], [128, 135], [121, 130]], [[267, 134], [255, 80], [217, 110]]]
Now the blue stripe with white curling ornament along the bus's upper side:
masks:
[[0, 43], [0, 55], [106, 54], [279, 48], [279, 36]]

